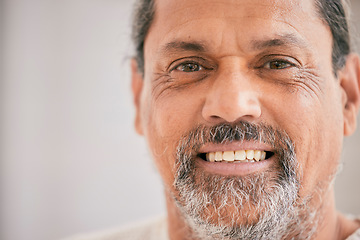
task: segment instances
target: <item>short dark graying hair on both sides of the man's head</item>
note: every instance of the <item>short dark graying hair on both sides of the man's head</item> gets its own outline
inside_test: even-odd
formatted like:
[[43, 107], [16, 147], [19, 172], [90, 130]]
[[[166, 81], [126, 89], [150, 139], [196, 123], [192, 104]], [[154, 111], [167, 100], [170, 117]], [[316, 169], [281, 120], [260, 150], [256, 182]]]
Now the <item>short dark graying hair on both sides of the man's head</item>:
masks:
[[[133, 13], [132, 40], [138, 71], [144, 75], [144, 42], [155, 15], [155, 0], [137, 0]], [[348, 4], [346, 0], [314, 0], [320, 19], [330, 27], [333, 39], [332, 67], [334, 75], [346, 63], [351, 52]]]

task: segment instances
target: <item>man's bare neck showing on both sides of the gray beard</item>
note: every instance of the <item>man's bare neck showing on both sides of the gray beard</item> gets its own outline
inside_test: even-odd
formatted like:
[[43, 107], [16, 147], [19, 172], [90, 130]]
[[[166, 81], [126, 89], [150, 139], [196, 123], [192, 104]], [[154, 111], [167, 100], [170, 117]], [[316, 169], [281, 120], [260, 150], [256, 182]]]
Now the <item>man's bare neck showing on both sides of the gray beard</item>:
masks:
[[[335, 209], [334, 191], [330, 190], [323, 198], [323, 207], [319, 212], [320, 223], [313, 240], [338, 240], [346, 239], [360, 223], [350, 221], [339, 214]], [[194, 240], [192, 230], [187, 225], [184, 217], [176, 206], [173, 197], [166, 192], [166, 203], [168, 212], [168, 232], [171, 240]]]

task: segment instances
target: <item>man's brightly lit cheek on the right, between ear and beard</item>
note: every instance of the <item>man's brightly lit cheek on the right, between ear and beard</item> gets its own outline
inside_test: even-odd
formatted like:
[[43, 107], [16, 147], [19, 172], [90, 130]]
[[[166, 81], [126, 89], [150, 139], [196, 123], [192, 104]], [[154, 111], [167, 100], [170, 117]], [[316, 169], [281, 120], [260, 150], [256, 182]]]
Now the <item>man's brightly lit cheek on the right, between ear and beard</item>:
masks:
[[302, 91], [286, 94], [280, 101], [286, 105], [278, 106], [281, 111], [274, 114], [295, 143], [302, 196], [312, 194], [319, 183], [328, 184], [337, 170], [342, 149], [339, 96], [335, 84], [324, 86], [316, 95]]

